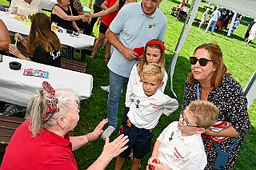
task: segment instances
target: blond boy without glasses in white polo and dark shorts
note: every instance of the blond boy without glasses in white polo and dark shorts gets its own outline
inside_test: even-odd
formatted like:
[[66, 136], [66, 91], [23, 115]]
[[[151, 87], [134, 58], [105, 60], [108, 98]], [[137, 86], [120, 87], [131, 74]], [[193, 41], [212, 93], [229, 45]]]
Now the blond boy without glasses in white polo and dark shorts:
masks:
[[[162, 93], [165, 69], [158, 64], [150, 63], [142, 72], [142, 86], [134, 85], [130, 97], [126, 97], [126, 107], [130, 107], [127, 113], [129, 119], [124, 128], [124, 135], [129, 137], [129, 148], [118, 157], [115, 169], [121, 169], [125, 158], [130, 155], [130, 149], [134, 150], [132, 168], [138, 169], [142, 157], [150, 152], [152, 130], [158, 125], [162, 114], [169, 116], [178, 109], [178, 101]], [[130, 99], [130, 100], [129, 100]]]

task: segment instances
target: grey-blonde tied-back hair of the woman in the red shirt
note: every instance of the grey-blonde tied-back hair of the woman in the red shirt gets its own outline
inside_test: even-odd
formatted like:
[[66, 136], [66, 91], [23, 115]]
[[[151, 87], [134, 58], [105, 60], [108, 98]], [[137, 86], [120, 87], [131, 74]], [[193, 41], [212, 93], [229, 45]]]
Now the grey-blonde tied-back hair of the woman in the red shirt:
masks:
[[[31, 119], [30, 131], [32, 137], [36, 136], [42, 128], [49, 128], [57, 123], [60, 116], [66, 117], [71, 109], [71, 103], [78, 103], [78, 96], [73, 89], [56, 89], [54, 99], [50, 99], [49, 93], [45, 89], [39, 89], [34, 96], [31, 97], [30, 103], [26, 108], [26, 115]], [[46, 113], [47, 100], [58, 100], [57, 108], [59, 111], [49, 121], [43, 123], [42, 117]]]

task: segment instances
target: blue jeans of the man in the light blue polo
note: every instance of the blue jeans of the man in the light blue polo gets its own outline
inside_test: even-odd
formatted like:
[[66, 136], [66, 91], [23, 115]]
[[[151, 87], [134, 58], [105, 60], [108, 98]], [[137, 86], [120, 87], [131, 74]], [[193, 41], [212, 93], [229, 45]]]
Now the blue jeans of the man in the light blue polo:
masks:
[[110, 92], [107, 99], [107, 118], [109, 120], [109, 125], [114, 128], [118, 125], [118, 103], [125, 80], [126, 77], [122, 77], [110, 70]]

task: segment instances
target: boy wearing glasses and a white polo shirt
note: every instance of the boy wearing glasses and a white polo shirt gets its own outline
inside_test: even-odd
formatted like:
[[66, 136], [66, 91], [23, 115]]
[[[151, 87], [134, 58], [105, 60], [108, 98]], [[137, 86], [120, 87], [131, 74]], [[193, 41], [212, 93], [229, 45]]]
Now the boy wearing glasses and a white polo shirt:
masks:
[[207, 158], [201, 133], [218, 121], [218, 113], [209, 101], [192, 101], [179, 121], [158, 136], [147, 169], [204, 169]]

